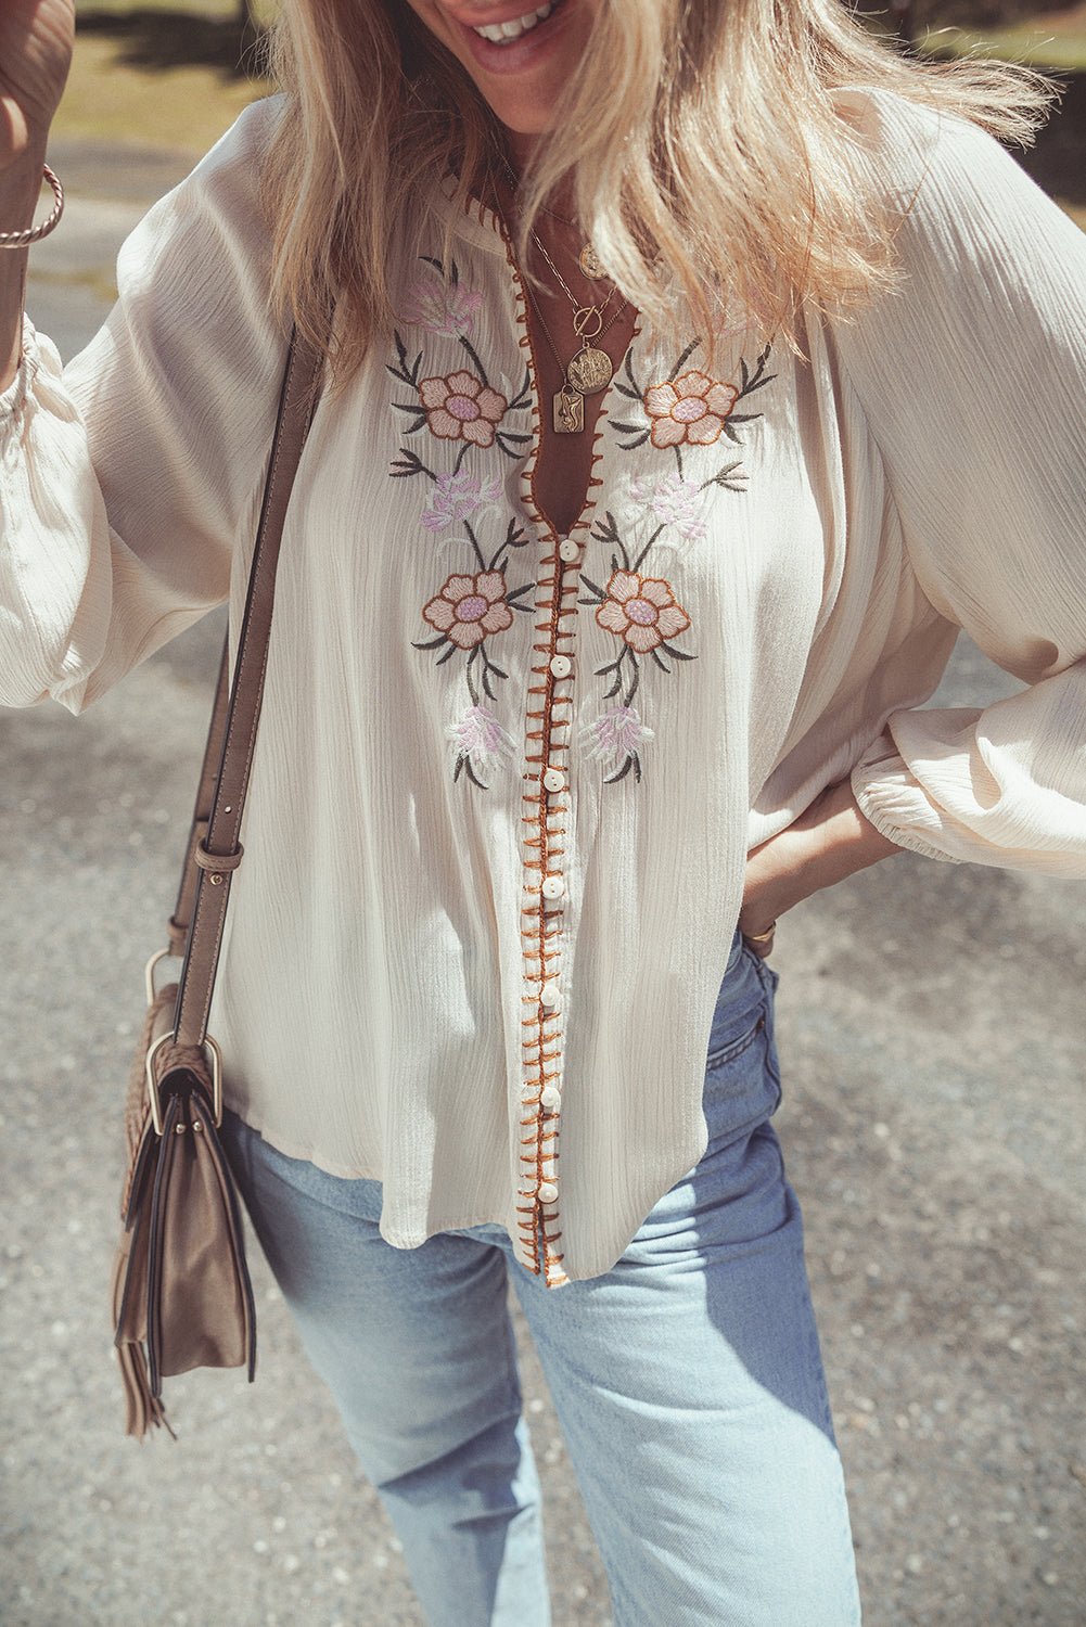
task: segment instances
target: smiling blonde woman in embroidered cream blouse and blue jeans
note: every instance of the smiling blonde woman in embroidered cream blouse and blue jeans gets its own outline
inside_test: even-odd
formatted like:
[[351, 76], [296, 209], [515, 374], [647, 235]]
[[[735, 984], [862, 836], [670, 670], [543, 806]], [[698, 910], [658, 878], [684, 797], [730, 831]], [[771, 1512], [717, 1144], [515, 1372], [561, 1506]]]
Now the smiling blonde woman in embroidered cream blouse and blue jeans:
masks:
[[[68, 21], [0, 23], [11, 231]], [[617, 1622], [855, 1622], [765, 955], [900, 848], [1086, 872], [1086, 247], [977, 129], [1039, 93], [835, 0], [278, 62], [65, 381], [0, 260], [0, 700], [238, 607], [335, 293], [212, 1017], [254, 1224], [430, 1622], [549, 1620], [510, 1279]], [[961, 626], [1029, 690], [917, 711]]]

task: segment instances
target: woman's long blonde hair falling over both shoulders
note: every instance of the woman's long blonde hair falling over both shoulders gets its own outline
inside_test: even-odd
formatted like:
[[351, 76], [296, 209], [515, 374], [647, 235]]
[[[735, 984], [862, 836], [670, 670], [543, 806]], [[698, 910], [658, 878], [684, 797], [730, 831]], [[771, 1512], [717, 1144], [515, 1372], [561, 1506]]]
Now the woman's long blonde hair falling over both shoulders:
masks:
[[[446, 174], [464, 203], [487, 195], [503, 132], [405, 0], [285, 0], [272, 62], [285, 91], [264, 168], [274, 293], [313, 337], [344, 296], [342, 382], [388, 329], [396, 223]], [[659, 327], [679, 321], [676, 286], [705, 334], [721, 298], [788, 335], [801, 306], [868, 296], [892, 277], [897, 221], [842, 112], [848, 88], [1016, 142], [1050, 99], [1021, 68], [902, 57], [842, 0], [601, 0], [560, 133], [521, 182], [521, 264], [542, 200], [571, 179], [607, 270]]]

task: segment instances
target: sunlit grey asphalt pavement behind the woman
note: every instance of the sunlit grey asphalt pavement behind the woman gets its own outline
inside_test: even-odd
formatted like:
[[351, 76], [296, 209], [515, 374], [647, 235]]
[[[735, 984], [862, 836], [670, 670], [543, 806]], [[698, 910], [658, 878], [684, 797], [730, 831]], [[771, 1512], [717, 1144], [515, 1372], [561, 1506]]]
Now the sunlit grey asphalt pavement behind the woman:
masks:
[[[28, 304], [70, 355], [184, 161], [70, 146]], [[107, 1272], [142, 970], [163, 940], [221, 623], [83, 719], [0, 713], [5, 1627], [417, 1627], [402, 1557], [254, 1259], [261, 1363], [122, 1435]], [[966, 641], [939, 691], [1014, 685]], [[778, 932], [780, 1128], [868, 1627], [1086, 1622], [1086, 887], [902, 856]], [[537, 1363], [555, 1627], [607, 1590]], [[668, 1627], [661, 1622], [659, 1627]], [[817, 1601], [804, 1622], [829, 1627]]]

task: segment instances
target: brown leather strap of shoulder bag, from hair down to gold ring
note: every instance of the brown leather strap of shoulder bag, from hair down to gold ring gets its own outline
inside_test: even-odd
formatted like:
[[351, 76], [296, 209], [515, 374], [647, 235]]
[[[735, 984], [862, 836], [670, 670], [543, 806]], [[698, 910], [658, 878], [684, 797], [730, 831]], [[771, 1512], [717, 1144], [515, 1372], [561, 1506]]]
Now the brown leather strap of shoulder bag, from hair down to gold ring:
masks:
[[295, 330], [278, 400], [233, 688], [228, 698], [228, 639], [204, 748], [177, 905], [169, 921], [169, 953], [181, 953], [184, 944], [173, 1027], [176, 1045], [202, 1046], [207, 1040], [230, 879], [243, 859], [238, 833], [264, 698], [278, 548], [295, 473], [321, 392], [322, 363], [324, 353]]

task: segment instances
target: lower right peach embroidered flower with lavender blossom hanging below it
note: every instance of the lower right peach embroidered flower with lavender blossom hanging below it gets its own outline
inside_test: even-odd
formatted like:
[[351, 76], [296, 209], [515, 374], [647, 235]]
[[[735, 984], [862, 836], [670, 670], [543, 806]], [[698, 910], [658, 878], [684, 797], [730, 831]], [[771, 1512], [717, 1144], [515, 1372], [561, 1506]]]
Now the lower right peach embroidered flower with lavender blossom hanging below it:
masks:
[[607, 514], [594, 526], [593, 540], [611, 548], [611, 579], [606, 587], [598, 587], [581, 571], [581, 586], [588, 589], [589, 597], [580, 599], [578, 604], [591, 605], [596, 610], [598, 625], [617, 638], [620, 644], [614, 661], [596, 667], [598, 678], [611, 678], [604, 700], [611, 701], [617, 696], [619, 704], [598, 718], [588, 731], [591, 755], [609, 765], [617, 763], [614, 773], [606, 778], [609, 786], [625, 779], [630, 770], [633, 770], [635, 781], [640, 783], [640, 750], [646, 740], [653, 739], [653, 731], [645, 727], [640, 714], [633, 709], [633, 696], [642, 685], [645, 657], [650, 657], [661, 672], [669, 675], [676, 669], [668, 665], [664, 656], [672, 661], [697, 659], [690, 651], [679, 649], [672, 643], [679, 633], [687, 631], [690, 617], [677, 602], [671, 582], [661, 576], [642, 574], [645, 556], [658, 535], [659, 530], [632, 560], [614, 514]]

